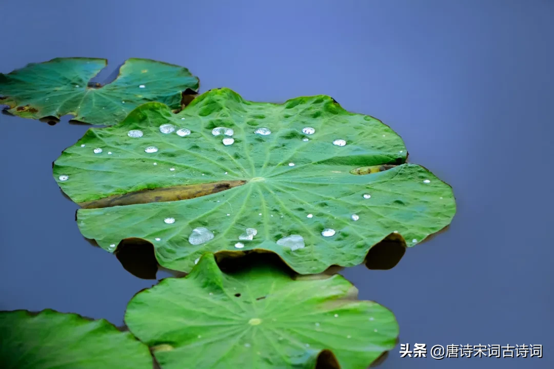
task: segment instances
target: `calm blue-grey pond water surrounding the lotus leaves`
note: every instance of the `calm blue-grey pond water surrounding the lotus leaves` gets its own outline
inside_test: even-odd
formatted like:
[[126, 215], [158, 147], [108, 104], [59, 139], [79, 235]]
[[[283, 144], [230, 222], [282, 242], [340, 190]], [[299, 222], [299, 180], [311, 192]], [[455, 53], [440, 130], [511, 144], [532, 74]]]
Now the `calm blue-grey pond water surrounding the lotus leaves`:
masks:
[[[342, 274], [396, 314], [401, 343], [543, 345], [543, 358], [401, 358], [381, 368], [552, 368], [554, 3], [3, 1], [0, 71], [58, 56], [187, 66], [248, 100], [325, 93], [398, 132], [454, 188], [449, 230], [389, 271]], [[310, 3], [310, 4], [309, 4]], [[24, 9], [24, 13], [17, 13]], [[122, 324], [139, 279], [93, 247], [52, 162], [88, 126], [0, 115], [0, 309]], [[158, 273], [158, 277], [167, 274]]]

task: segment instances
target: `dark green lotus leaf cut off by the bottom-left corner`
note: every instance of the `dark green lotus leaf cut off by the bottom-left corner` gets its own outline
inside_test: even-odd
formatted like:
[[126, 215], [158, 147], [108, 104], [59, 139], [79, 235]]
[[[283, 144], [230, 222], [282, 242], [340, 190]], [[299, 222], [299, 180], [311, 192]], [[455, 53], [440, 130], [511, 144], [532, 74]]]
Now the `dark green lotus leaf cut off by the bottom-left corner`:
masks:
[[43, 310], [0, 312], [2, 369], [151, 369], [148, 347], [106, 320]]

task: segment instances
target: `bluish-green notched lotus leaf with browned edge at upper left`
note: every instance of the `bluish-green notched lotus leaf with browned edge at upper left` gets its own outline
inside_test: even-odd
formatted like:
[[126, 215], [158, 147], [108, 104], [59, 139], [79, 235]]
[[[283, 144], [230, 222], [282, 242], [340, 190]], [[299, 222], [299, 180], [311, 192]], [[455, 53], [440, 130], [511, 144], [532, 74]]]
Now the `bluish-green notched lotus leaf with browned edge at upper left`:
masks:
[[198, 78], [188, 69], [150, 59], [127, 60], [110, 84], [90, 83], [106, 64], [106, 59], [57, 58], [0, 74], [0, 105], [24, 118], [71, 114], [81, 122], [110, 125], [149, 101], [179, 108], [183, 91], [198, 90]]

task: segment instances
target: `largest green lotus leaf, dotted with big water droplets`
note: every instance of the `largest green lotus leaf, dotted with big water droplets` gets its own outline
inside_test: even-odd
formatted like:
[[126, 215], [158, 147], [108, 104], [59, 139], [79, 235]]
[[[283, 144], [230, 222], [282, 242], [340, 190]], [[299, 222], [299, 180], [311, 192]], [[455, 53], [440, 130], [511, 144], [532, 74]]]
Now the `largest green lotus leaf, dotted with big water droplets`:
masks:
[[89, 129], [54, 177], [96, 208], [78, 225], [107, 251], [142, 238], [162, 266], [189, 272], [204, 252], [269, 250], [306, 274], [362, 263], [393, 232], [413, 246], [449, 224], [452, 189], [406, 156], [391, 128], [330, 97], [276, 105], [220, 89], [177, 115], [148, 103]]

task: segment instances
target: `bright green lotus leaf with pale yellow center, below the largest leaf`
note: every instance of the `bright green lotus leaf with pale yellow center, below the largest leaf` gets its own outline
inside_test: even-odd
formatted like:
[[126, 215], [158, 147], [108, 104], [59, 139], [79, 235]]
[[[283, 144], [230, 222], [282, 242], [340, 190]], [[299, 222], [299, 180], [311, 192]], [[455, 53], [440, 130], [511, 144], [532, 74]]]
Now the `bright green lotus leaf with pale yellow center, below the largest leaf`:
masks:
[[294, 280], [267, 264], [225, 274], [206, 254], [187, 277], [135, 295], [125, 323], [163, 369], [312, 369], [324, 350], [365, 369], [394, 347], [398, 324], [356, 293], [339, 275]]

